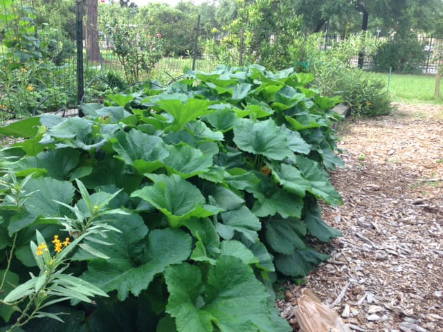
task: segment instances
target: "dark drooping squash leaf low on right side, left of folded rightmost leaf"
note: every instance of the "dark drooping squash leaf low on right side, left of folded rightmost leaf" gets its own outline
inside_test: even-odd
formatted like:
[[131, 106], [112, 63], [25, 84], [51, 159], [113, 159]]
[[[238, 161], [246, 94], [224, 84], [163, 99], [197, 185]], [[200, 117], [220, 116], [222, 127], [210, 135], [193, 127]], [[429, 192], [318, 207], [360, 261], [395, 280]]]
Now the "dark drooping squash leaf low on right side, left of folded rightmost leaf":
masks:
[[305, 249], [302, 237], [306, 235], [306, 225], [299, 219], [273, 218], [265, 223], [266, 241], [280, 254], [291, 255], [296, 249]]

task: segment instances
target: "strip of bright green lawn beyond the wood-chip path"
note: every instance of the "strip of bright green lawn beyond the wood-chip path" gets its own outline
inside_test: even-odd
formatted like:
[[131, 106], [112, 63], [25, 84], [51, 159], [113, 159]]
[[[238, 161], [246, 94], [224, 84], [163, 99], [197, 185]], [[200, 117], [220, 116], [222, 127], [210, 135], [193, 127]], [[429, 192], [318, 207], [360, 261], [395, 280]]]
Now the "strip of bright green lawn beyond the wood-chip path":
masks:
[[[368, 73], [388, 86], [388, 73]], [[440, 98], [434, 99], [434, 75], [406, 75], [392, 73], [390, 80], [390, 95], [395, 102], [410, 102], [413, 104], [443, 104], [443, 82], [440, 85]]]

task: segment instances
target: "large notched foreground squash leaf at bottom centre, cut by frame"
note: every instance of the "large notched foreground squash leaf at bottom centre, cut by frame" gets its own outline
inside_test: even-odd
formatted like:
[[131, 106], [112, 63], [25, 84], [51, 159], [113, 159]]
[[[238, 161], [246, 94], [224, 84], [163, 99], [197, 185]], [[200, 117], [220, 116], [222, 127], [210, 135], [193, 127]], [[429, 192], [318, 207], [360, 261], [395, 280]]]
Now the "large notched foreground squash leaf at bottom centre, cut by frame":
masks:
[[[210, 266], [207, 284], [197, 266], [181, 264], [165, 271], [170, 298], [166, 311], [179, 332], [278, 331], [271, 318], [269, 293], [240, 259], [221, 256]], [[290, 331], [286, 329], [280, 331]]]

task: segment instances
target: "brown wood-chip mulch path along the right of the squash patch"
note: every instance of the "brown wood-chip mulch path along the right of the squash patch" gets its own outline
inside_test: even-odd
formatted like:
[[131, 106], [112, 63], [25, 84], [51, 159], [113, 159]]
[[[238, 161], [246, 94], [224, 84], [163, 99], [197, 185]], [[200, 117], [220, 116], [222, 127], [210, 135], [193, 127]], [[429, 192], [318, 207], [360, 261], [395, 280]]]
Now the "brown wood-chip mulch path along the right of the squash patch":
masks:
[[288, 284], [278, 300], [293, 331], [302, 288], [351, 331], [443, 331], [443, 109], [396, 106], [338, 129], [347, 168], [331, 178], [344, 204], [323, 212], [343, 237], [306, 284]]

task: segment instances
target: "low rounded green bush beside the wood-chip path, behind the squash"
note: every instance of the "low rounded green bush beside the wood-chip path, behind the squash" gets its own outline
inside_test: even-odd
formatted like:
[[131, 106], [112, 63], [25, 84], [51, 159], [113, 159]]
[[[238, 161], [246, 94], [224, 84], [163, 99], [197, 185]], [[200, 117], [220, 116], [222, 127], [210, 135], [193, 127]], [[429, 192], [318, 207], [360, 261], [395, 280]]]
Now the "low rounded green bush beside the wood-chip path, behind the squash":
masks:
[[392, 111], [385, 84], [363, 71], [348, 71], [338, 83], [338, 89], [343, 101], [350, 106], [352, 116], [386, 116]]

